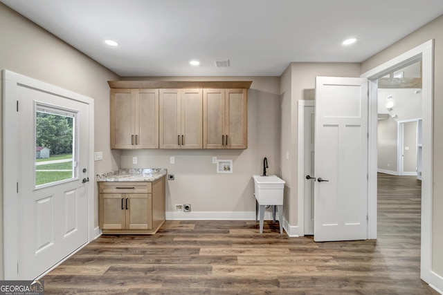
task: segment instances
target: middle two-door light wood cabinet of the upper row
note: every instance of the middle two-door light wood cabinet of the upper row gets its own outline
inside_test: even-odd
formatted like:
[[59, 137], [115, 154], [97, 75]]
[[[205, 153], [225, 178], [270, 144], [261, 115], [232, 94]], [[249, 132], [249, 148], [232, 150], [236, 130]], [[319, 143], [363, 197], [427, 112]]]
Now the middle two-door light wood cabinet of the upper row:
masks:
[[203, 148], [201, 89], [160, 89], [160, 149]]

